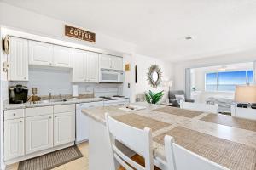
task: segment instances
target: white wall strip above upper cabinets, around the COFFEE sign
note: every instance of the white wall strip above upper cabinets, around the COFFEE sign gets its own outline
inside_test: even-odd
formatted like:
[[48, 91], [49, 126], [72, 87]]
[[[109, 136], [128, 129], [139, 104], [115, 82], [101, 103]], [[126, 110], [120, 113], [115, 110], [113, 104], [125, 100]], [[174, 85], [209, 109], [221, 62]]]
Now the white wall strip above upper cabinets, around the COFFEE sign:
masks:
[[28, 33], [33, 33], [45, 37], [52, 37], [67, 42], [75, 42], [91, 47], [115, 50], [128, 54], [131, 54], [136, 48], [136, 46], [130, 42], [124, 42], [122, 40], [109, 37], [108, 35], [102, 34], [101, 32], [96, 32], [96, 43], [80, 41], [71, 37], [65, 37], [65, 24], [75, 26], [73, 23], [55, 20], [42, 14], [37, 14], [22, 8], [11, 6], [7, 3], [0, 3], [1, 26], [20, 29], [20, 31], [26, 31]]

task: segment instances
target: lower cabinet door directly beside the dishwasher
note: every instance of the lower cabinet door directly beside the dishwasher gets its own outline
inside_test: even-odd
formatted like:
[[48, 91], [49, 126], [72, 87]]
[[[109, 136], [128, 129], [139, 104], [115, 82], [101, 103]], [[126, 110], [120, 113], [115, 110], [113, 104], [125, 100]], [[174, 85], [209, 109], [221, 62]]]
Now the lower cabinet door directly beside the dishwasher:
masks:
[[75, 141], [75, 112], [55, 114], [54, 146]]

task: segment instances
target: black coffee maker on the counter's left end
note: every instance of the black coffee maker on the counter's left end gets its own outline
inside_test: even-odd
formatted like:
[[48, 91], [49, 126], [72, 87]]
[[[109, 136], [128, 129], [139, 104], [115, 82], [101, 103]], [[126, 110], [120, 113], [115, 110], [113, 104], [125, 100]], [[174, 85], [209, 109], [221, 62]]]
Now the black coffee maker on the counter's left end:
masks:
[[28, 88], [17, 84], [16, 86], [9, 87], [9, 103], [22, 104], [27, 101]]

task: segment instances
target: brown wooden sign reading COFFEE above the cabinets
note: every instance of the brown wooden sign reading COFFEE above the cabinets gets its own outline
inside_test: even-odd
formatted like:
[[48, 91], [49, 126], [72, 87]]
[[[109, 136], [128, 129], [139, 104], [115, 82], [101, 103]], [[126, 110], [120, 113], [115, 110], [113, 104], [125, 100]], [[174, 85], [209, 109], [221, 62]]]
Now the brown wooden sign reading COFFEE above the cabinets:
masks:
[[96, 42], [96, 34], [90, 31], [81, 30], [73, 26], [65, 25], [65, 36], [78, 38], [88, 42]]

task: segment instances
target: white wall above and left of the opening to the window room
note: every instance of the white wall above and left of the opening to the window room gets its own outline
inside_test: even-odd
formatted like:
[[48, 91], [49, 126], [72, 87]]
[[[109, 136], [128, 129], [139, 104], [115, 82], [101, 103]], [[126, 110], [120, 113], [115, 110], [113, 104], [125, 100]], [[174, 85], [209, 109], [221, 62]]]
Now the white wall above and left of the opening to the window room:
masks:
[[234, 54], [222, 54], [218, 56], [212, 56], [206, 59], [195, 59], [186, 62], [179, 62], [174, 64], [174, 88], [185, 89], [185, 69], [205, 67], [212, 65], [225, 65], [232, 63], [244, 63], [251, 62], [256, 59], [256, 49], [247, 51], [236, 52]]

